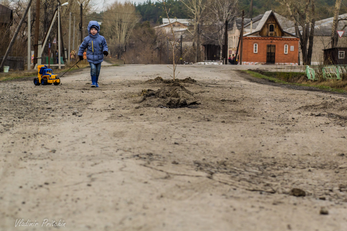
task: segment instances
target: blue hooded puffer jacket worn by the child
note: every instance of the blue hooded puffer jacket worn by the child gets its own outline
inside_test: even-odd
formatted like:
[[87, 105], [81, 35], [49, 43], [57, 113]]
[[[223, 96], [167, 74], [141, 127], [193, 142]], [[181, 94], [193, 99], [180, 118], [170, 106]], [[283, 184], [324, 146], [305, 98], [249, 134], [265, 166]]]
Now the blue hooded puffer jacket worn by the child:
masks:
[[[95, 35], [90, 33], [90, 28], [92, 26], [96, 26], [98, 28], [98, 33]], [[101, 63], [104, 60], [104, 54], [102, 52], [108, 52], [106, 39], [99, 35], [100, 26], [97, 21], [90, 21], [87, 29], [89, 35], [84, 38], [82, 44], [79, 46], [77, 55], [83, 55], [85, 48], [87, 48], [87, 61], [94, 64]]]

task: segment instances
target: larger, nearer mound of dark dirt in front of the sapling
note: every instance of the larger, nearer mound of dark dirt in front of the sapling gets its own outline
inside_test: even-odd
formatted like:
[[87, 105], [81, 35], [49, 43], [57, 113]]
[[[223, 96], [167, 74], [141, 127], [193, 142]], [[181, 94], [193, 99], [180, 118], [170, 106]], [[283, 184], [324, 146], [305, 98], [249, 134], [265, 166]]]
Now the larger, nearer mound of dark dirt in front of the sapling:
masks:
[[156, 91], [147, 89], [141, 95], [141, 103], [147, 107], [181, 108], [198, 104], [193, 92], [183, 86], [162, 87]]

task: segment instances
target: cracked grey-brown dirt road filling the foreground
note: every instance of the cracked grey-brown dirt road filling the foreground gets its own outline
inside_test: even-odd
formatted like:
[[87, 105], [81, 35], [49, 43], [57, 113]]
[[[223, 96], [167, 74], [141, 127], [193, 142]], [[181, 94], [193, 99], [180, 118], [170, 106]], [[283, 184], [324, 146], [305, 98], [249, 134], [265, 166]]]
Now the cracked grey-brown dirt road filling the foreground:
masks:
[[346, 96], [235, 68], [1, 82], [0, 230], [347, 230]]

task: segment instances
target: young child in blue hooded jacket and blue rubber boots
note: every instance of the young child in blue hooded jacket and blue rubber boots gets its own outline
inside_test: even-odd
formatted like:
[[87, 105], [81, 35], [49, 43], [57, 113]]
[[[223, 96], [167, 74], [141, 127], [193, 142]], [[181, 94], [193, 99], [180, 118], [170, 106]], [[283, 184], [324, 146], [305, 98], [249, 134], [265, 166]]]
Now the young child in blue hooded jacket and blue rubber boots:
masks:
[[87, 61], [90, 64], [90, 75], [92, 84], [90, 87], [99, 87], [98, 79], [100, 74], [101, 62], [104, 55], [108, 55], [108, 47], [106, 39], [99, 35], [100, 26], [97, 21], [90, 21], [88, 24], [88, 36], [84, 38], [79, 46], [78, 57], [83, 60], [83, 52], [87, 48]]

